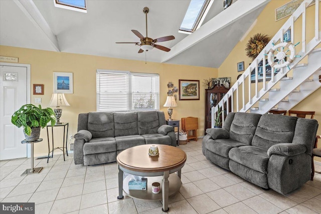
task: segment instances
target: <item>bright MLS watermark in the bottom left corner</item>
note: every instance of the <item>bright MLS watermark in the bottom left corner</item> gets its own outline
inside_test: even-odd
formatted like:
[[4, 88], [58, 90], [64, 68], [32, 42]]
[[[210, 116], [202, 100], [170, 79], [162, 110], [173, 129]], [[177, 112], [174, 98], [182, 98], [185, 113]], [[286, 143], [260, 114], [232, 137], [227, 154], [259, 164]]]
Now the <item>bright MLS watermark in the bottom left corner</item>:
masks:
[[1, 213], [35, 214], [35, 203], [1, 203]]

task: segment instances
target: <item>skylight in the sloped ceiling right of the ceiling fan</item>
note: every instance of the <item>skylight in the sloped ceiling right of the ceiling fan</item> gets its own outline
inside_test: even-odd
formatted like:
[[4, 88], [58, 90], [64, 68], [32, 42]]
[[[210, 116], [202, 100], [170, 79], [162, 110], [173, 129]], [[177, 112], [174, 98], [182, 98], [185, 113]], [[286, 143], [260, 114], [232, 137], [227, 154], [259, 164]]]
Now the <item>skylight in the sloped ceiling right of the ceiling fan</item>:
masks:
[[191, 34], [198, 29], [202, 25], [212, 3], [213, 0], [191, 0], [179, 32]]

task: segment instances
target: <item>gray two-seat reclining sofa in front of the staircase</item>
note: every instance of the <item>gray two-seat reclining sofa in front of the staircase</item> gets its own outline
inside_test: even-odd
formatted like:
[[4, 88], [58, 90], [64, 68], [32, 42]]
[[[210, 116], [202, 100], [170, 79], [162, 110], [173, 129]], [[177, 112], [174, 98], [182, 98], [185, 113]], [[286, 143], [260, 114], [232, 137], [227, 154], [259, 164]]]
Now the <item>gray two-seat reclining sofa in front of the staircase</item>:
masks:
[[206, 130], [202, 151], [245, 180], [287, 194], [310, 179], [317, 127], [314, 119], [229, 113], [223, 128]]

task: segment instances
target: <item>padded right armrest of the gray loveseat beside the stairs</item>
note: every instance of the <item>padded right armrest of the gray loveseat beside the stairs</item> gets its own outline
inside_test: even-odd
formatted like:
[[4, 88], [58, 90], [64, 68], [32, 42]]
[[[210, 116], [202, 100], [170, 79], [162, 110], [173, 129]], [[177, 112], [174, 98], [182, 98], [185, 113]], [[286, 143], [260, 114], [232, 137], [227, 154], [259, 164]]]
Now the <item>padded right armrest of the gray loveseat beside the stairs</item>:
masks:
[[306, 152], [305, 146], [301, 144], [293, 144], [293, 143], [275, 144], [267, 150], [267, 154], [269, 156], [271, 156], [272, 154], [294, 156], [298, 154], [303, 154], [305, 152]]

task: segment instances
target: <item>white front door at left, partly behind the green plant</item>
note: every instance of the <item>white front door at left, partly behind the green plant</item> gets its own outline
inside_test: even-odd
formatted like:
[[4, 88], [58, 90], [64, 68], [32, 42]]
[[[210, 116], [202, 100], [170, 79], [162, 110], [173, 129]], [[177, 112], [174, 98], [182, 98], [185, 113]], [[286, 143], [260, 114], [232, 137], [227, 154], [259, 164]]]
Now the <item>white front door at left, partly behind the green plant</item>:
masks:
[[27, 157], [27, 146], [21, 143], [23, 129], [11, 123], [11, 116], [30, 96], [28, 67], [4, 64], [0, 65], [0, 160]]

